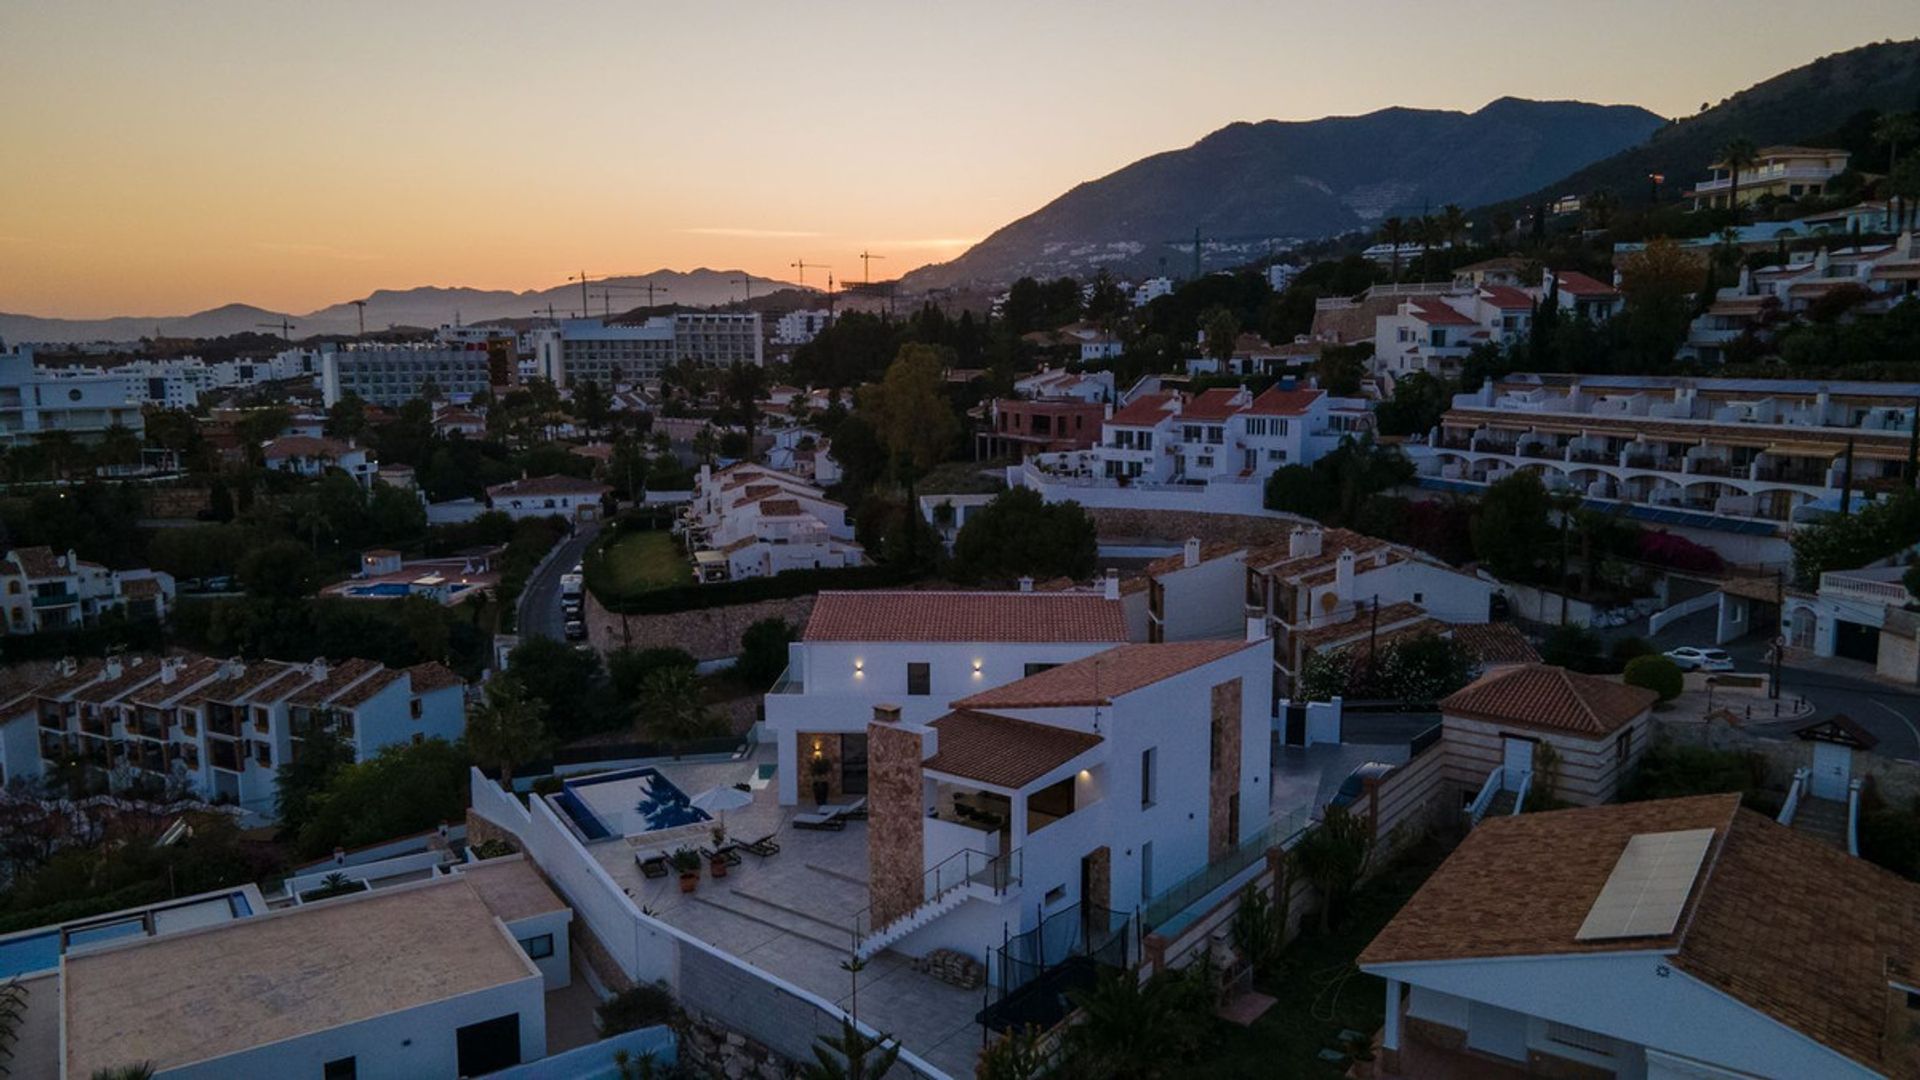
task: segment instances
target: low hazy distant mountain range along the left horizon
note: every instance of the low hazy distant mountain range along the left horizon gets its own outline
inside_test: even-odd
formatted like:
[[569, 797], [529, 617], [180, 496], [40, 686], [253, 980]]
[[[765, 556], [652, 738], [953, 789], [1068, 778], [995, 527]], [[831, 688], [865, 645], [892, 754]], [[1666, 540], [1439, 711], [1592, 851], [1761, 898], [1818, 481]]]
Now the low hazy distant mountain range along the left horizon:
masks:
[[[645, 304], [645, 284], [655, 286], [653, 302], [659, 306], [682, 304], [689, 307], [714, 307], [741, 296], [741, 286], [733, 284], [741, 271], [670, 271], [660, 269], [639, 277], [614, 277], [588, 282], [591, 313], [601, 315], [609, 304], [601, 298], [603, 286], [612, 286], [611, 309], [632, 309]], [[755, 292], [776, 288], [797, 288], [785, 281], [753, 279]], [[442, 323], [486, 323], [492, 319], [528, 319], [536, 311], [541, 315], [553, 306], [555, 315], [580, 313], [580, 284], [555, 284], [528, 292], [507, 288], [382, 288], [363, 298], [367, 302], [367, 331], [388, 327], [438, 327]], [[219, 338], [250, 331], [276, 332], [280, 321], [294, 325], [294, 338], [315, 334], [353, 334], [359, 331], [359, 309], [348, 304], [334, 304], [305, 315], [290, 311], [269, 311], [252, 304], [227, 304], [194, 315], [138, 317], [121, 315], [113, 319], [44, 319], [38, 315], [12, 315], [0, 311], [0, 340], [13, 342], [121, 342], [150, 336], [169, 338]]]

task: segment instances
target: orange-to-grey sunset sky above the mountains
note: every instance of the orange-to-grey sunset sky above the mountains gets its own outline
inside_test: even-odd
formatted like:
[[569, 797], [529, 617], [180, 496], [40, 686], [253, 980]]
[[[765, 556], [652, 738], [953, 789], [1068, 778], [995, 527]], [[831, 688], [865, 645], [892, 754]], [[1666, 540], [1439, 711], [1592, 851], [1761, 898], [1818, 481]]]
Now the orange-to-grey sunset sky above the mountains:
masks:
[[1686, 115], [1908, 37], [1914, 0], [4, 0], [0, 311], [856, 275], [862, 248], [897, 275], [1235, 119]]

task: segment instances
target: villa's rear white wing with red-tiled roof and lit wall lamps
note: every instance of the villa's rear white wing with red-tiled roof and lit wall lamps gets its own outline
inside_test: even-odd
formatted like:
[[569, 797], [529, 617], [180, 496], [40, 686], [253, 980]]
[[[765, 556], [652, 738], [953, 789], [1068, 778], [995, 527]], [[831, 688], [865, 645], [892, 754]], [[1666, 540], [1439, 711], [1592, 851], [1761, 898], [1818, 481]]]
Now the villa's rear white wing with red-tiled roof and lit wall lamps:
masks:
[[912, 723], [947, 703], [1127, 642], [1119, 588], [1100, 592], [822, 592], [766, 696], [780, 801], [820, 780], [868, 792], [868, 719]]

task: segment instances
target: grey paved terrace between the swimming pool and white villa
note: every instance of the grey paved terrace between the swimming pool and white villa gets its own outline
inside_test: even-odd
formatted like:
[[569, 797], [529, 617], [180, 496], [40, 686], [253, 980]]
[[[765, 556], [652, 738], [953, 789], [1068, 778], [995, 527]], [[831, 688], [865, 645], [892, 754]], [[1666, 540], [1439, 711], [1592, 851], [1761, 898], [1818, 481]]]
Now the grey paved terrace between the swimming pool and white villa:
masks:
[[[755, 767], [753, 759], [659, 765], [689, 796], [716, 784], [745, 782]], [[741, 865], [718, 880], [703, 867], [701, 884], [691, 894], [680, 892], [676, 874], [647, 878], [634, 855], [670, 851], [672, 842], [689, 832], [701, 834], [697, 844], [710, 846], [710, 826], [628, 836], [593, 844], [588, 851], [634, 903], [657, 919], [849, 1007], [852, 988], [841, 961], [852, 947], [854, 915], [868, 905], [866, 822], [847, 822], [841, 832], [797, 830], [789, 819], [812, 807], [781, 807], [774, 786], [753, 796], [753, 805], [726, 813], [728, 836], [774, 836], [780, 853], [760, 859], [743, 851]], [[860, 1020], [899, 1038], [952, 1076], [973, 1074], [981, 1045], [981, 1026], [973, 1022], [979, 1007], [979, 990], [960, 990], [922, 974], [900, 953], [883, 951], [860, 972]]]

